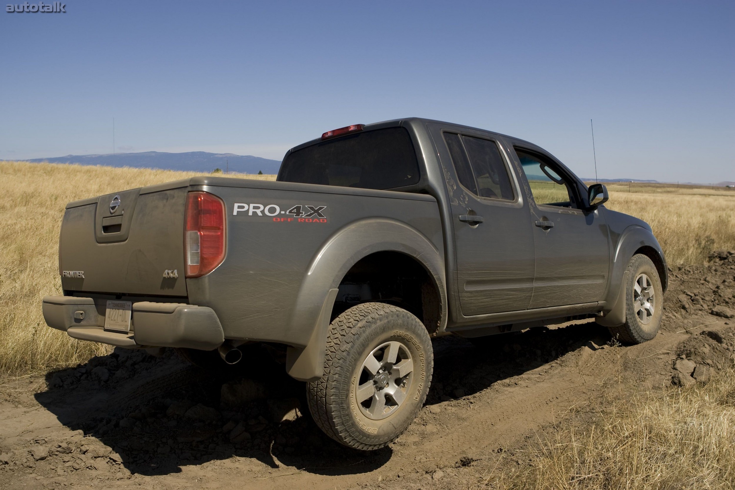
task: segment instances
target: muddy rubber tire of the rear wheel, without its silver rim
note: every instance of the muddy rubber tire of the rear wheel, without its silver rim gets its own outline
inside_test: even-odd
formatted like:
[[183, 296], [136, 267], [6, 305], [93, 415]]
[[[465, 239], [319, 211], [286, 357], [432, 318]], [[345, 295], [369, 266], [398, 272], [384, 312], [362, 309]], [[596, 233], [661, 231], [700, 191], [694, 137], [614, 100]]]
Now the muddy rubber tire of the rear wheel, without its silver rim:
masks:
[[[399, 342], [413, 361], [404, 401], [383, 419], [370, 419], [356, 402], [356, 382], [367, 356], [386, 342]], [[397, 366], [398, 364], [396, 364]], [[309, 411], [328, 436], [357, 450], [390, 444], [408, 428], [426, 400], [434, 368], [431, 339], [408, 311], [385, 303], [362, 303], [329, 325], [324, 372], [306, 383]]]

